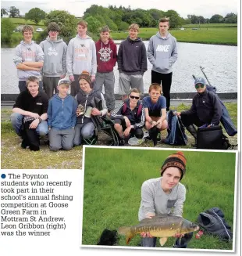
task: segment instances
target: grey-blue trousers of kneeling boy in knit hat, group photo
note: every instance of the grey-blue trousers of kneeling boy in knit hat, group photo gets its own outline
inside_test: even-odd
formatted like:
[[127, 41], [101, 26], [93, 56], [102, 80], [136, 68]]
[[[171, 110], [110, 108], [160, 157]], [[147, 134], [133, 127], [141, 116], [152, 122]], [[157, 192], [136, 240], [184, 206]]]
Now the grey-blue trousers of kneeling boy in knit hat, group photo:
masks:
[[75, 126], [74, 145], [79, 146], [82, 138], [90, 139], [94, 135], [95, 125], [93, 122], [86, 124], [77, 124]]

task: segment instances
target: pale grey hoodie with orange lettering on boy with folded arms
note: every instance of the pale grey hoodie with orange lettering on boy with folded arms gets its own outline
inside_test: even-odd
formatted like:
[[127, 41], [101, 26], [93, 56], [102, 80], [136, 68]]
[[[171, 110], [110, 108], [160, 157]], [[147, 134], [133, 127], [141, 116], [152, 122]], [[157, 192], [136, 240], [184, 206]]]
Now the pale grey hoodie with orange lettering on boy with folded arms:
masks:
[[[37, 45], [34, 41], [31, 41], [30, 44], [20, 41], [20, 45], [15, 49], [13, 62], [17, 66], [24, 61], [43, 62], [44, 52], [41, 46]], [[41, 72], [36, 70], [17, 70], [17, 74], [20, 81], [26, 81], [30, 76], [41, 78]]]

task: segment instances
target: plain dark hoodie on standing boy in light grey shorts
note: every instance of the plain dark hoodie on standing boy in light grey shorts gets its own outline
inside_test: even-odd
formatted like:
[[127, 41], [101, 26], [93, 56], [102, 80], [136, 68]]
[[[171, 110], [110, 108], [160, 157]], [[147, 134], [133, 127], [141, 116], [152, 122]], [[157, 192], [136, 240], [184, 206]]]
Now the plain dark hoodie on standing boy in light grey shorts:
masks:
[[144, 42], [141, 38], [131, 40], [130, 37], [122, 41], [118, 52], [119, 73], [144, 74], [147, 70], [147, 56]]

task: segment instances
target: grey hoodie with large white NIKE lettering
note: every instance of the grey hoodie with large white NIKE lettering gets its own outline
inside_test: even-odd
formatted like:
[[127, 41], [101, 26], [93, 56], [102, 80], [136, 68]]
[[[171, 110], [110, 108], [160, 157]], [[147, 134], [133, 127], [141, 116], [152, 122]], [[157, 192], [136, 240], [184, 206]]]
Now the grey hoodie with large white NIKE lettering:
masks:
[[152, 70], [161, 74], [171, 73], [177, 59], [176, 38], [169, 33], [162, 38], [157, 32], [150, 38], [147, 56], [153, 65]]

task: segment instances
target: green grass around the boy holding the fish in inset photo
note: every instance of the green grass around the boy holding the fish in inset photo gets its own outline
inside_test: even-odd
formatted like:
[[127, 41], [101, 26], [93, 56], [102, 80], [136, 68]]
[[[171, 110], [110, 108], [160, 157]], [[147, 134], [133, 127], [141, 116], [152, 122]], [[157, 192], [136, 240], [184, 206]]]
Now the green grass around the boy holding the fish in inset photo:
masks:
[[[158, 178], [165, 158], [175, 151], [86, 148], [84, 166], [84, 209], [82, 243], [95, 245], [104, 229], [136, 225], [141, 204], [141, 185], [149, 178]], [[182, 183], [187, 189], [183, 218], [196, 222], [199, 213], [220, 207], [233, 227], [235, 154], [183, 151], [187, 172]], [[169, 238], [165, 247], [172, 247]], [[130, 245], [140, 242], [137, 235]], [[125, 236], [119, 246], [126, 246]], [[232, 250], [215, 236], [193, 238], [189, 248]]]

